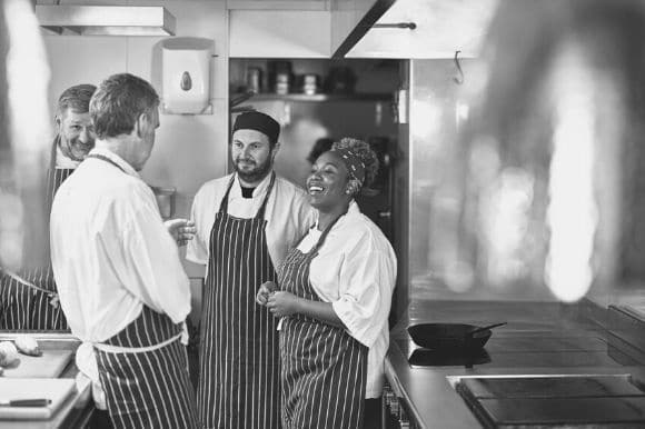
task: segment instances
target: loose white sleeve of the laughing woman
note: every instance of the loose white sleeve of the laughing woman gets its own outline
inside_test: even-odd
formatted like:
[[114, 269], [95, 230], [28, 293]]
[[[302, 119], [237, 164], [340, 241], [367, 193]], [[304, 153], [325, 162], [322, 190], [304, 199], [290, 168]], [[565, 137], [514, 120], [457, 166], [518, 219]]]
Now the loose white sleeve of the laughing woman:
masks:
[[396, 277], [395, 263], [366, 235], [340, 268], [340, 297], [331, 303], [351, 337], [371, 347], [386, 322]]

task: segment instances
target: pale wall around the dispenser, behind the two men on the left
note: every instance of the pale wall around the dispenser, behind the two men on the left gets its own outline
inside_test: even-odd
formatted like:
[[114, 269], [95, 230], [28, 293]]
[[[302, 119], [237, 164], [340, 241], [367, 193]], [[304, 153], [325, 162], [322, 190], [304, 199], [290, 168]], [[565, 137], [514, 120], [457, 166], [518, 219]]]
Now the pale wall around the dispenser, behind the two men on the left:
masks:
[[[48, 1], [39, 1], [47, 3]], [[63, 1], [64, 4], [67, 1]], [[71, 3], [71, 1], [70, 1]], [[78, 3], [78, 1], [77, 1]], [[83, 3], [91, 3], [85, 1]], [[102, 4], [123, 4], [102, 0]], [[142, 171], [155, 186], [177, 188], [177, 216], [187, 216], [195, 192], [207, 180], [226, 172], [228, 143], [228, 13], [225, 0], [137, 1], [137, 6], [165, 6], [177, 18], [177, 36], [215, 40], [212, 114], [162, 114], [152, 156]], [[130, 72], [150, 80], [160, 91], [157, 37], [46, 36], [51, 67], [50, 106], [66, 88], [99, 83], [111, 73]], [[191, 277], [204, 272], [187, 265]]]

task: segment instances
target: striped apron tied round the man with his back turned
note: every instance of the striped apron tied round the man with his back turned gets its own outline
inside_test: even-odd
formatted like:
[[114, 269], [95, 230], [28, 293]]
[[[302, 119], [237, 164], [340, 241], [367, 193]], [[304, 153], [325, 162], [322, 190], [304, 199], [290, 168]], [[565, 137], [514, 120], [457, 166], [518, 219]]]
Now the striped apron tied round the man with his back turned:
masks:
[[198, 428], [181, 325], [143, 306], [95, 351], [115, 428]]

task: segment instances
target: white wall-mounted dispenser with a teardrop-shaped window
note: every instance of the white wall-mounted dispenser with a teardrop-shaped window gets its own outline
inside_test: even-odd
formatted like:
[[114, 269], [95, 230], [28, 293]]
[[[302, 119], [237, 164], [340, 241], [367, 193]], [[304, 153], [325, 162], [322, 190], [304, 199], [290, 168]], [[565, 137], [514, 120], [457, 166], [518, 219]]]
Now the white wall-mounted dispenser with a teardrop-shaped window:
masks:
[[172, 38], [161, 42], [161, 102], [166, 114], [211, 114], [210, 64], [214, 42]]

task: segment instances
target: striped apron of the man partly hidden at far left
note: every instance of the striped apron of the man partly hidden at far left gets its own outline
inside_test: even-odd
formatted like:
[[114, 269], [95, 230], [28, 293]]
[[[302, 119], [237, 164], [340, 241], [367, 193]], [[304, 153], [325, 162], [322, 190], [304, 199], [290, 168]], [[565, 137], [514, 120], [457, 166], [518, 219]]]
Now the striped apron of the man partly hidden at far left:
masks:
[[[53, 140], [51, 163], [47, 174], [47, 213], [51, 211], [51, 202], [58, 188], [75, 171], [56, 168], [58, 141], [57, 137]], [[47, 222], [49, 225], [49, 219]], [[47, 230], [49, 231], [49, 227]], [[43, 241], [49, 248], [49, 237], [46, 237]], [[42, 289], [56, 292], [51, 265], [24, 270], [20, 277]], [[67, 330], [69, 326], [60, 306], [51, 305], [49, 295], [30, 289], [16, 279], [0, 273], [0, 329]]]

